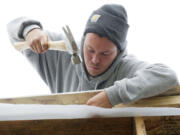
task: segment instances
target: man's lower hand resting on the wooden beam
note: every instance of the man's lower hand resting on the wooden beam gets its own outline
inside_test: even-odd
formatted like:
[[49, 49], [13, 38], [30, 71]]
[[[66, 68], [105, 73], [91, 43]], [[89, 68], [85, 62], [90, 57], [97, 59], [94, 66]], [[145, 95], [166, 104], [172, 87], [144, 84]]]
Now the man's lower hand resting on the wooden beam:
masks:
[[92, 106], [104, 107], [104, 108], [112, 108], [112, 104], [110, 103], [105, 91], [100, 92], [99, 94], [90, 98], [86, 104]]

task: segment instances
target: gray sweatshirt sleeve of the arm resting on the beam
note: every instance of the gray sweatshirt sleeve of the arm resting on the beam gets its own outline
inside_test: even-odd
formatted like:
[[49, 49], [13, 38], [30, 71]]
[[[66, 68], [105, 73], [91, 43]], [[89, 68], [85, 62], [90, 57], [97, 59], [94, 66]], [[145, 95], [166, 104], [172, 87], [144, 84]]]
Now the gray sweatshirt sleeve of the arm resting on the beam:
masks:
[[120, 72], [126, 77], [106, 89], [112, 105], [155, 96], [179, 84], [176, 73], [163, 64], [147, 64], [127, 58], [121, 65]]

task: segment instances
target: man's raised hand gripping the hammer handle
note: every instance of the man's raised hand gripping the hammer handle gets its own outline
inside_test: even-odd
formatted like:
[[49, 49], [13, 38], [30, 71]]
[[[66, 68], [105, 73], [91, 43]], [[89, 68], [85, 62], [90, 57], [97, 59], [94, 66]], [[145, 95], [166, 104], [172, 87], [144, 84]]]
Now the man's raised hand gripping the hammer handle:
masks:
[[26, 42], [36, 53], [44, 53], [48, 50], [48, 35], [41, 29], [33, 29], [26, 36]]

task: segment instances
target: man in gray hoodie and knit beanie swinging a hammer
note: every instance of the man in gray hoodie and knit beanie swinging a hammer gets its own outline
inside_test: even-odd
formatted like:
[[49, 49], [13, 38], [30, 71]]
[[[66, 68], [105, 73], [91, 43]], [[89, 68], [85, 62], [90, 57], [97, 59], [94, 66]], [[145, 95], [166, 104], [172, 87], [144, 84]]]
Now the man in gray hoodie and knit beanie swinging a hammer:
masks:
[[26, 40], [23, 51], [52, 93], [103, 89], [88, 105], [112, 107], [160, 94], [178, 84], [176, 74], [163, 64], [148, 64], [126, 52], [127, 14], [121, 5], [95, 10], [81, 43], [83, 62], [71, 63], [67, 52], [48, 50], [59, 34], [43, 31], [40, 22], [18, 18], [8, 24], [12, 43]]

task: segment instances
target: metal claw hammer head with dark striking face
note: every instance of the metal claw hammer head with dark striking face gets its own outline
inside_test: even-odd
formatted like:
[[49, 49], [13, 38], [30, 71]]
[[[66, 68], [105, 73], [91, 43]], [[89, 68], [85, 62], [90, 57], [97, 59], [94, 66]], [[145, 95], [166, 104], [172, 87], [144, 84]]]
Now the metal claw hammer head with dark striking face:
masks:
[[63, 27], [63, 31], [64, 31], [67, 39], [69, 40], [71, 48], [72, 48], [71, 60], [72, 60], [73, 64], [81, 63], [82, 59], [81, 59], [81, 56], [79, 54], [79, 49], [77, 47], [77, 44], [74, 40], [74, 37], [72, 35], [72, 32], [71, 32], [69, 26]]

